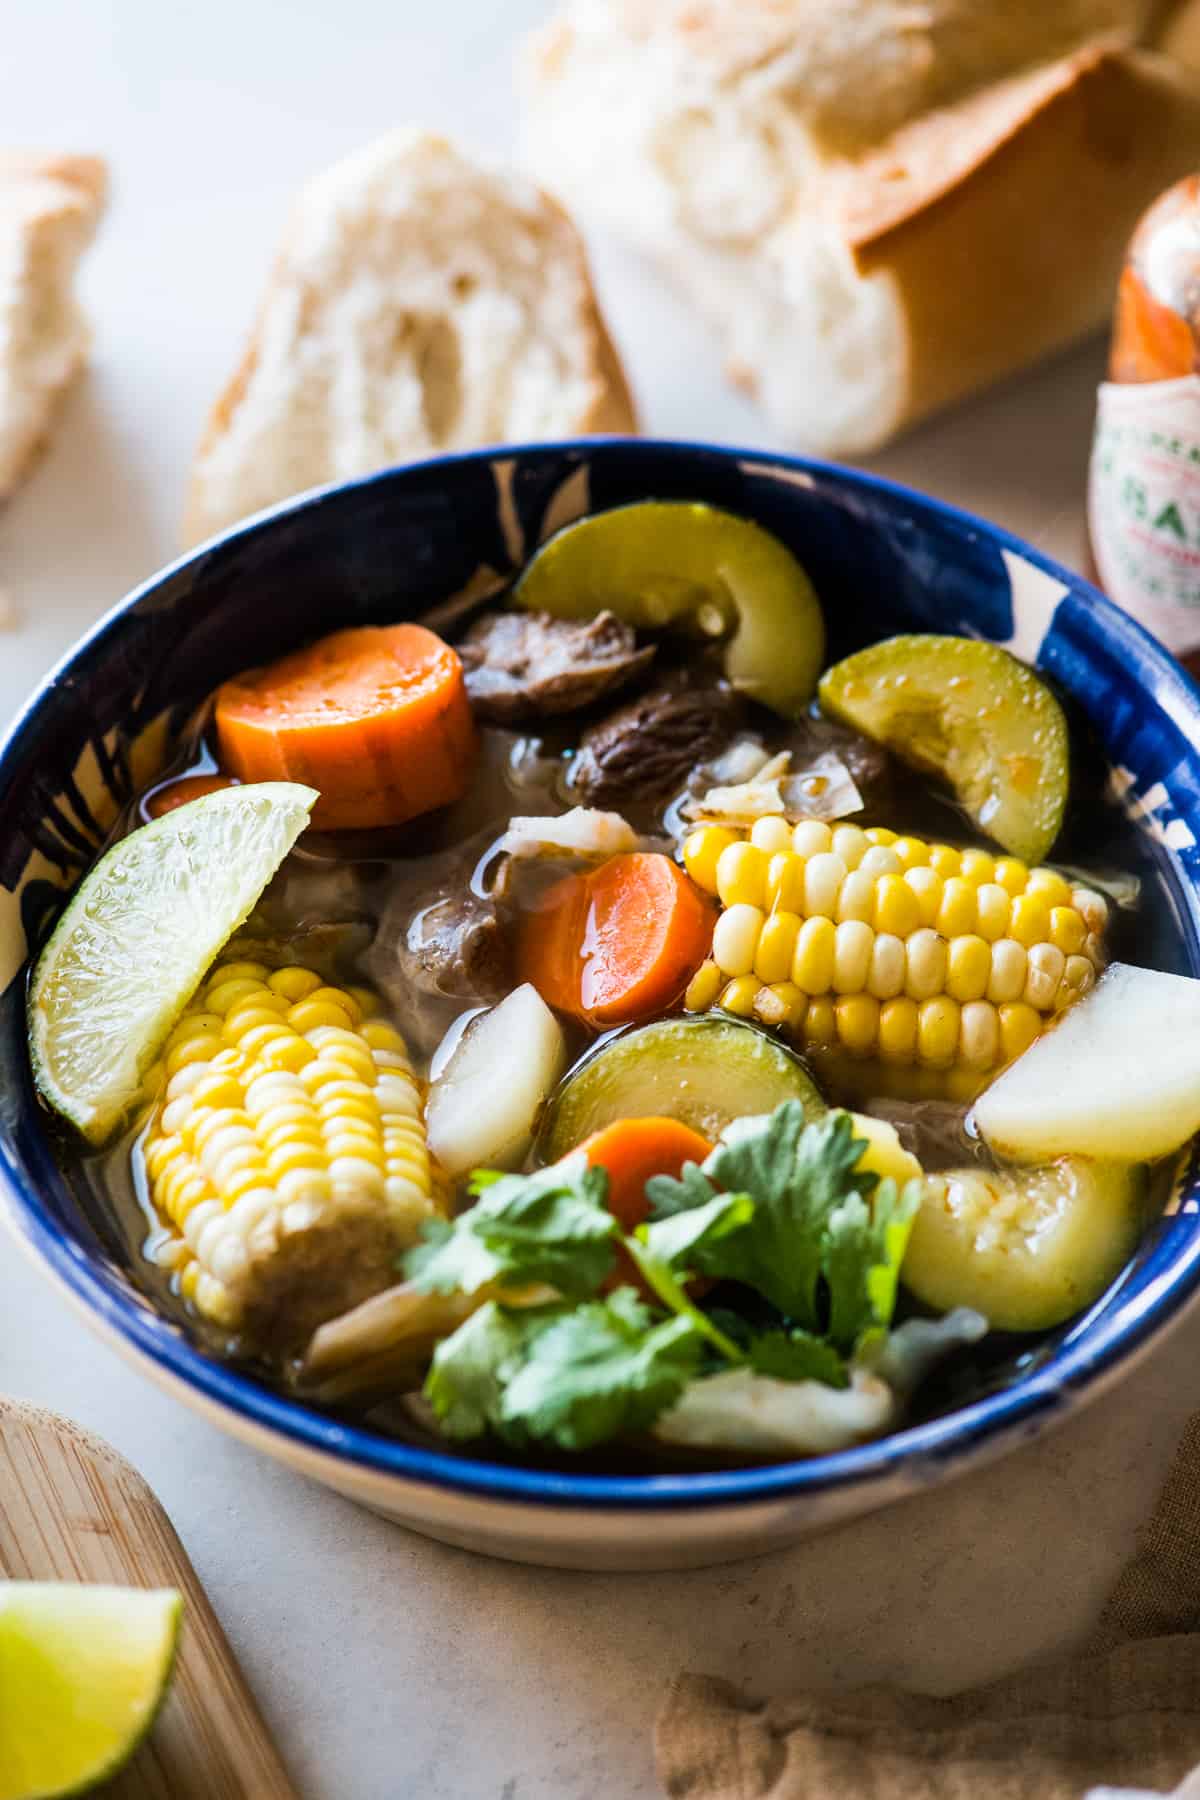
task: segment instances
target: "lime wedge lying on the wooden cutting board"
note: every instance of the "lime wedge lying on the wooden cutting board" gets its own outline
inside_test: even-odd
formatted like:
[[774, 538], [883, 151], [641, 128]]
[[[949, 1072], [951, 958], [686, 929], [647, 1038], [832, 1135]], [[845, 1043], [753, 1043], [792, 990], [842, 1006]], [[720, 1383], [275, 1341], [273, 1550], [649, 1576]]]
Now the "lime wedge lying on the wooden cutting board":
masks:
[[184, 1602], [171, 1589], [0, 1584], [0, 1800], [108, 1780], [171, 1681]]

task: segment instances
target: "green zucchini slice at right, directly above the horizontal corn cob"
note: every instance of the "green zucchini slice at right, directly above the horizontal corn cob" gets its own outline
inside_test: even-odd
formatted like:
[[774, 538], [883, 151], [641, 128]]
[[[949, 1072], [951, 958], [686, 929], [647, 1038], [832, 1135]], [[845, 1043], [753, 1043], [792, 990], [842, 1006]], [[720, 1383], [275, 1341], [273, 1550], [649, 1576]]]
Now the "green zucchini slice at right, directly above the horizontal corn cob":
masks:
[[885, 637], [820, 677], [844, 725], [946, 781], [1013, 857], [1042, 862], [1063, 823], [1063, 709], [1027, 664], [977, 637]]

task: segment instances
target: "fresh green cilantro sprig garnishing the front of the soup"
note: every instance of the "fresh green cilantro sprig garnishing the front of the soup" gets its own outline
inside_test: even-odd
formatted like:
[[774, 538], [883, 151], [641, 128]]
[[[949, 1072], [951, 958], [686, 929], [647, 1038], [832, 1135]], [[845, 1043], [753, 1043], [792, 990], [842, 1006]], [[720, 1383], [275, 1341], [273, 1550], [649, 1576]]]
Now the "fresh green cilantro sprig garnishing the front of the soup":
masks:
[[[579, 1150], [534, 1175], [477, 1172], [475, 1206], [426, 1228], [408, 1278], [561, 1300], [489, 1300], [443, 1339], [425, 1390], [443, 1429], [574, 1451], [646, 1429], [712, 1366], [844, 1388], [847, 1357], [887, 1334], [921, 1201], [919, 1181], [900, 1190], [860, 1170], [864, 1148], [847, 1112], [806, 1125], [784, 1102], [730, 1125], [702, 1165], [648, 1181], [653, 1217], [628, 1237], [606, 1172]], [[655, 1307], [630, 1287], [601, 1292], [617, 1246]], [[698, 1276], [750, 1289], [770, 1323], [705, 1312]]]

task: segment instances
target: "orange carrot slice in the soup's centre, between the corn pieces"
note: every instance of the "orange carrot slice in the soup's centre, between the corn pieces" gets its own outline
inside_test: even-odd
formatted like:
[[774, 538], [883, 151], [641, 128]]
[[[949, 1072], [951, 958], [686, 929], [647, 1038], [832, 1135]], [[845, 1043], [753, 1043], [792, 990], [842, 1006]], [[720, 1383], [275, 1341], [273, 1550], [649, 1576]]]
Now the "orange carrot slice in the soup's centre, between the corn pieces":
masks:
[[657, 851], [610, 857], [542, 896], [518, 940], [522, 981], [587, 1024], [649, 1019], [687, 986], [712, 941], [714, 909]]

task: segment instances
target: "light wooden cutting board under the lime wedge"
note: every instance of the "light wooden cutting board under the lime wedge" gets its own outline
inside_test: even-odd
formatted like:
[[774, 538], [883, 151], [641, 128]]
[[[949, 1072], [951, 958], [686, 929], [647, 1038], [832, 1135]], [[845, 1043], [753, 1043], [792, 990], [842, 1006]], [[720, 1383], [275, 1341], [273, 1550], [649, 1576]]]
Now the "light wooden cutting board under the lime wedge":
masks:
[[104, 1800], [299, 1800], [187, 1552], [142, 1476], [67, 1418], [4, 1399], [0, 1577], [184, 1595], [166, 1706]]

